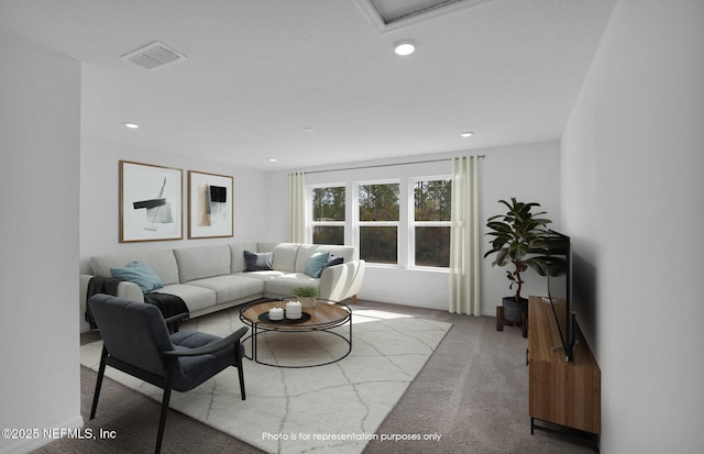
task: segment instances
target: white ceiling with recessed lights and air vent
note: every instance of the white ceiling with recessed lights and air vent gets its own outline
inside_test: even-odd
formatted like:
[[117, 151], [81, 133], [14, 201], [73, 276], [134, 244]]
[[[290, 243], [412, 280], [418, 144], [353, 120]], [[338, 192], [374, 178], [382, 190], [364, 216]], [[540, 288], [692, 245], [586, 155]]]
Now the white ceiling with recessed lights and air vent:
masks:
[[[354, 0], [0, 0], [0, 31], [84, 62], [87, 136], [305, 169], [558, 139], [614, 2], [491, 0], [383, 31]], [[187, 58], [121, 58], [154, 41]]]

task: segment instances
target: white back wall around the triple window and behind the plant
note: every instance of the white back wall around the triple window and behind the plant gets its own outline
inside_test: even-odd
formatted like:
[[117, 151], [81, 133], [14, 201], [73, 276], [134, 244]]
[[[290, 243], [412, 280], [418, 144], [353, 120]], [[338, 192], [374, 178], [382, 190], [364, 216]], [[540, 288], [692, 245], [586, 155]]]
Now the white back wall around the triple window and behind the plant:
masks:
[[[486, 155], [481, 162], [481, 217], [486, 219], [490, 215], [503, 213], [499, 199], [517, 197], [522, 201], [537, 201], [548, 211], [548, 215], [554, 221], [553, 228], [559, 229], [560, 220], [560, 146], [559, 142], [541, 142], [534, 144], [521, 144], [504, 146], [497, 148], [475, 150], [462, 152], [464, 154]], [[332, 168], [360, 167], [369, 165], [380, 165], [383, 167], [352, 169], [344, 171], [318, 170], [328, 168], [305, 169], [307, 184], [339, 184], [374, 180], [384, 178], [404, 178], [409, 176], [436, 176], [450, 175], [451, 156], [461, 153], [436, 154], [425, 156], [413, 156], [400, 159], [385, 159], [380, 162], [363, 162], [349, 164], [346, 166], [334, 166]], [[393, 163], [406, 163], [416, 160], [432, 160], [447, 158], [440, 163], [426, 163], [403, 166], [386, 166]], [[279, 226], [279, 234], [284, 235], [288, 225], [288, 186], [286, 184], [287, 174], [272, 173], [268, 176], [270, 187], [278, 188], [282, 192], [274, 192], [279, 203], [279, 209], [272, 210], [272, 225]], [[271, 203], [276, 203], [274, 200]], [[488, 246], [488, 240], [484, 241], [484, 251]], [[399, 251], [400, 253], [400, 251]], [[504, 296], [512, 295], [508, 288], [508, 280], [505, 277], [506, 268], [494, 268], [492, 261], [483, 262], [482, 285], [483, 304], [482, 313], [487, 315], [496, 314], [496, 306], [501, 304]], [[528, 283], [524, 287], [524, 295], [544, 295], [544, 279], [532, 274], [526, 275]], [[403, 303], [431, 309], [448, 309], [448, 274], [442, 272], [428, 272], [409, 269], [407, 267], [373, 266], [366, 268], [364, 285], [360, 292], [360, 298], [374, 301]]]

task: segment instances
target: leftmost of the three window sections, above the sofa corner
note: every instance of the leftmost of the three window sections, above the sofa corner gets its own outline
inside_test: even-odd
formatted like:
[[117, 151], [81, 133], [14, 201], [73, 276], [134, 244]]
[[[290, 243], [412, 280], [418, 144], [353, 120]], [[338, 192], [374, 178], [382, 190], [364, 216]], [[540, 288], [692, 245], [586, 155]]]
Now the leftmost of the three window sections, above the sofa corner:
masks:
[[344, 244], [344, 186], [312, 188], [314, 244]]

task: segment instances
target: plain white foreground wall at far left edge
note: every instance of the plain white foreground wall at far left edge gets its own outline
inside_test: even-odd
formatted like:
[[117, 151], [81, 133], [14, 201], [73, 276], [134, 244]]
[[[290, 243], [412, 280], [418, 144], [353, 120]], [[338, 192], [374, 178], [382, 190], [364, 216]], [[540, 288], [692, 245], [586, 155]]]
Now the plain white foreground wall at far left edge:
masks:
[[0, 57], [0, 428], [79, 428], [80, 64], [3, 34]]

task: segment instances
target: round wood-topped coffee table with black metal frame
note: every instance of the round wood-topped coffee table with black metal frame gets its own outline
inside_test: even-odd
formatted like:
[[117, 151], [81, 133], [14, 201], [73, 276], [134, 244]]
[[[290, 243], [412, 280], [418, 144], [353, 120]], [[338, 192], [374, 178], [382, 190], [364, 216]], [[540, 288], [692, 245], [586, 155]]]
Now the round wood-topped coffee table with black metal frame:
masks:
[[[252, 345], [252, 356], [248, 356], [249, 359], [253, 359], [256, 363], [287, 368], [302, 368], [302, 367], [316, 367], [324, 366], [326, 364], [337, 363], [338, 361], [346, 357], [352, 352], [352, 310], [341, 302], [320, 300], [312, 308], [302, 308], [302, 317], [298, 320], [288, 320], [284, 317], [283, 320], [270, 320], [268, 311], [272, 308], [286, 309], [287, 300], [267, 300], [256, 301], [240, 310], [240, 320], [252, 328], [252, 334], [248, 337]], [[342, 326], [345, 323], [350, 325], [349, 336], [345, 337], [340, 333], [330, 331], [333, 328]], [[280, 364], [273, 364], [260, 361], [258, 358], [258, 337], [262, 334], [268, 332], [279, 333], [306, 333], [319, 331], [328, 334], [336, 335], [342, 339], [348, 347], [346, 352], [342, 356], [336, 357], [332, 361], [327, 361], [317, 364], [308, 364], [305, 366], [287, 366]], [[244, 342], [248, 337], [243, 339]]]

